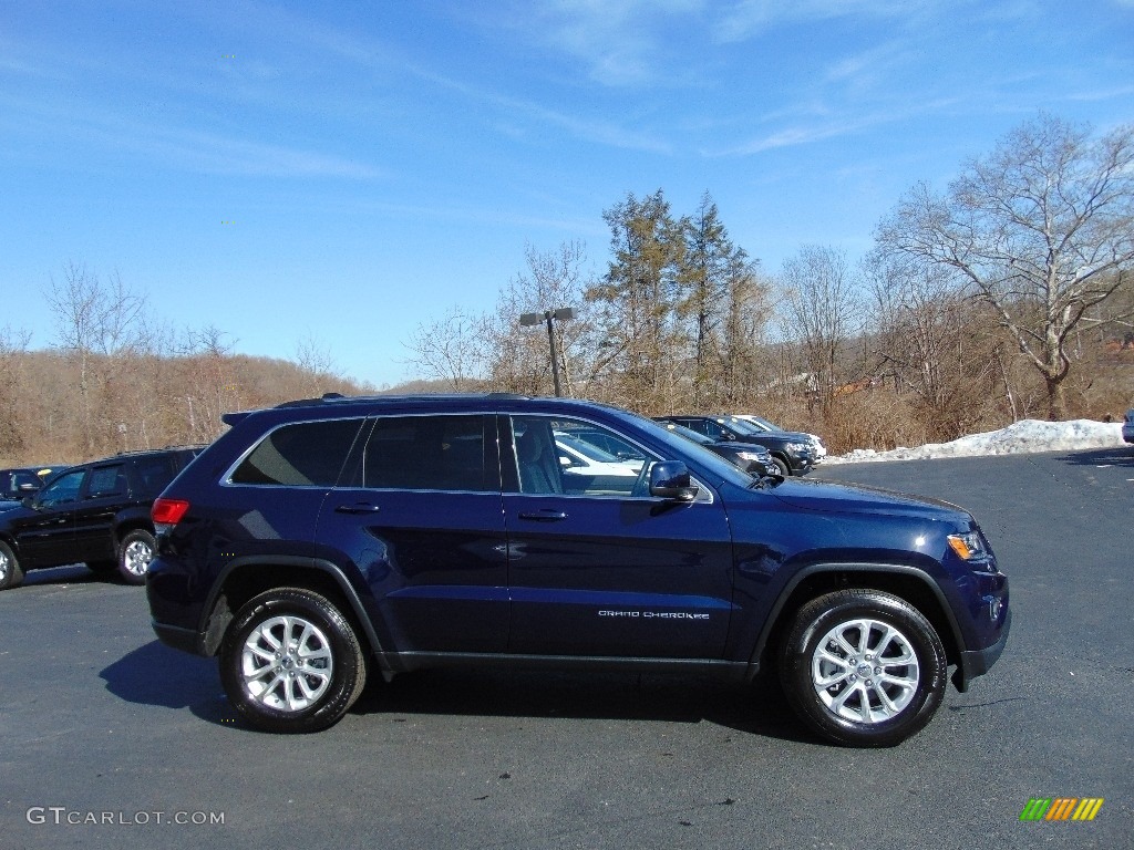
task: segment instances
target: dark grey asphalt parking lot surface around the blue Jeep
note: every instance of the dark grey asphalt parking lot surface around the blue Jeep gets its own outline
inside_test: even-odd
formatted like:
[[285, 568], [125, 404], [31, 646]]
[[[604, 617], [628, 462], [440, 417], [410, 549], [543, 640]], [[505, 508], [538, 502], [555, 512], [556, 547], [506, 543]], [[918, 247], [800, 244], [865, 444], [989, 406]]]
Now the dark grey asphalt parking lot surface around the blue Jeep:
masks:
[[[71, 567], [0, 594], [0, 850], [1134, 845], [1134, 451], [826, 466], [963, 504], [1012, 639], [887, 750], [696, 678], [429, 672], [335, 728], [252, 731], [141, 588]], [[1091, 822], [1021, 822], [1102, 798]]]

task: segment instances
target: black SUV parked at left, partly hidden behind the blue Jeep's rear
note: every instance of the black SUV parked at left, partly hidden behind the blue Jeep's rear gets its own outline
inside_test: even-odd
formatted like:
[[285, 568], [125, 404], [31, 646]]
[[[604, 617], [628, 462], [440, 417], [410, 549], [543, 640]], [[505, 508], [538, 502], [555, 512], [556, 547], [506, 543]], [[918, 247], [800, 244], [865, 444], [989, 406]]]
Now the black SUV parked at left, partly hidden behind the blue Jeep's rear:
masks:
[[0, 512], [0, 590], [27, 570], [86, 563], [145, 581], [153, 556], [150, 507], [200, 447], [126, 452], [69, 467]]

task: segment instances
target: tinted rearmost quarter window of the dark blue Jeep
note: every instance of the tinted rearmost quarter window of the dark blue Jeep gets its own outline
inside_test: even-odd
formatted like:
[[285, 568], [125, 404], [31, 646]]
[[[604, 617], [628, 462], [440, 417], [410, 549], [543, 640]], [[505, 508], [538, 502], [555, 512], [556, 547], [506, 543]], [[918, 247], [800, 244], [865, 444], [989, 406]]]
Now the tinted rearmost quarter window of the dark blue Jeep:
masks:
[[333, 487], [362, 423], [328, 419], [276, 428], [236, 468], [230, 481]]

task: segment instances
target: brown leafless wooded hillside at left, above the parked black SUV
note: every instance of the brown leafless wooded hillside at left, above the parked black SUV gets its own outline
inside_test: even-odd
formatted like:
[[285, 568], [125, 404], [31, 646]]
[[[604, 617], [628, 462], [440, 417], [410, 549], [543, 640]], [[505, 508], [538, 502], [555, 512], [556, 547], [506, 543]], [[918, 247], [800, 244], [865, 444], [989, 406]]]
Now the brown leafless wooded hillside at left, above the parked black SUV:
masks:
[[321, 355], [312, 358], [310, 343], [293, 363], [234, 355], [222, 340], [215, 329], [180, 340], [147, 332], [113, 346], [29, 351], [26, 340], [0, 331], [0, 466], [208, 443], [230, 410], [372, 391], [335, 374]]

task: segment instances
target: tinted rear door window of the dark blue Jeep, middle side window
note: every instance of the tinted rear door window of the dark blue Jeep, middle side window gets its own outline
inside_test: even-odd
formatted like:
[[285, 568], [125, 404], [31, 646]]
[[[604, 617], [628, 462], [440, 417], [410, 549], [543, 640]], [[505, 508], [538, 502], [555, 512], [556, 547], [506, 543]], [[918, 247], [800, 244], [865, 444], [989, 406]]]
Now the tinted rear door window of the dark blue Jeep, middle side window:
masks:
[[381, 416], [366, 443], [363, 486], [499, 492], [485, 464], [490, 423], [480, 415]]

